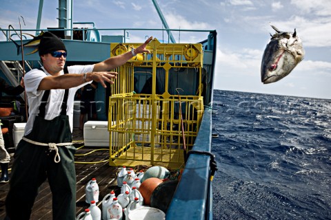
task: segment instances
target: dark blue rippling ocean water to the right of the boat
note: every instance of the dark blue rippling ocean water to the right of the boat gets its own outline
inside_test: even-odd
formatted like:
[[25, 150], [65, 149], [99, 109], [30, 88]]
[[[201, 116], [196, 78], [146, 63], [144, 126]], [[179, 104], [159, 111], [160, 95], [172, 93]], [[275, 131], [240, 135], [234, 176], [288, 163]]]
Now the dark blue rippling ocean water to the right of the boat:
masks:
[[214, 219], [331, 219], [331, 100], [214, 91]]

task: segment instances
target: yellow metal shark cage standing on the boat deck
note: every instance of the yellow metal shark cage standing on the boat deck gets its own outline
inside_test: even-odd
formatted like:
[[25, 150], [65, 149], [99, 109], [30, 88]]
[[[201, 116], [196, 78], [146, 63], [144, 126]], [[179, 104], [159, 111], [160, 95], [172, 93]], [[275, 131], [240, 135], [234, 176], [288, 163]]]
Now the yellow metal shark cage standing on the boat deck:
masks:
[[[123, 54], [130, 43], [112, 43], [113, 56]], [[194, 68], [201, 85], [202, 45], [160, 43], [152, 40], [151, 54], [132, 58], [126, 65], [115, 69], [117, 80], [111, 87], [108, 109], [110, 132], [110, 166], [183, 166], [183, 140], [190, 151], [199, 131], [203, 115], [203, 97], [197, 89], [194, 95], [170, 94], [168, 84], [171, 68]], [[134, 69], [152, 69], [152, 93], [134, 93]], [[165, 76], [163, 94], [156, 94], [156, 72]], [[179, 112], [181, 114], [179, 114]], [[182, 133], [181, 117], [183, 116]]]

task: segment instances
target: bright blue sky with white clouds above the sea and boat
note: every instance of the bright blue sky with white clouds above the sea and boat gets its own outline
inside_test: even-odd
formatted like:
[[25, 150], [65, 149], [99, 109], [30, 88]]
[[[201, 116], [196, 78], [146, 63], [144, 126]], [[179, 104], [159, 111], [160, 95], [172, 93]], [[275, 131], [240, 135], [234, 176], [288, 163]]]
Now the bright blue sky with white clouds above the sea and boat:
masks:
[[[217, 30], [214, 89], [331, 99], [330, 0], [157, 2], [171, 29]], [[8, 28], [9, 24], [19, 28], [20, 16], [26, 24], [23, 29], [36, 28], [39, 0], [0, 0], [0, 3], [0, 28]], [[58, 27], [57, 4], [58, 1], [44, 1], [41, 28]], [[150, 0], [74, 1], [73, 8], [74, 22], [94, 22], [96, 28], [162, 28]], [[305, 57], [290, 75], [263, 85], [261, 59], [270, 34], [274, 34], [270, 23], [285, 32], [294, 32], [296, 28]], [[145, 36], [145, 33], [130, 35], [130, 42], [143, 42]], [[177, 42], [185, 38], [197, 42], [205, 39], [185, 33], [174, 37]]]

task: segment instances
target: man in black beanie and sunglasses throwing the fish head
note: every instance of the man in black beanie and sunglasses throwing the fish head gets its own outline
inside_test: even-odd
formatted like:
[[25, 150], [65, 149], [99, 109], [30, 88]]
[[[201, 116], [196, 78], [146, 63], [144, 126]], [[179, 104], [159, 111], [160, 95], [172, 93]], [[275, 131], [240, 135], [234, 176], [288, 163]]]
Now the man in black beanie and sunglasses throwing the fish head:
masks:
[[[63, 42], [46, 32], [39, 44], [42, 69], [32, 69], [24, 78], [29, 103], [29, 119], [24, 137], [14, 155], [10, 190], [6, 198], [6, 219], [30, 219], [38, 188], [46, 180], [52, 190], [53, 219], [75, 219], [76, 173], [72, 146], [72, 113], [77, 89], [92, 80], [106, 87], [116, 72], [137, 53], [148, 52], [146, 45], [108, 58], [95, 65], [68, 67], [64, 74], [67, 50]], [[49, 94], [48, 94], [49, 93]], [[21, 206], [17, 207], [19, 201]]]

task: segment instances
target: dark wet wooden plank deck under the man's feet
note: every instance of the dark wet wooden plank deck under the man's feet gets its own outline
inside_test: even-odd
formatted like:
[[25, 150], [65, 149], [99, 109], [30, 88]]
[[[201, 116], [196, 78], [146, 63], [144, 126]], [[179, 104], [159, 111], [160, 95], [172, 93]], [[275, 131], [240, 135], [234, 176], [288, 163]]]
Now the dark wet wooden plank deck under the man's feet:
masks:
[[[117, 187], [116, 181], [117, 168], [108, 165], [109, 152], [106, 150], [101, 150], [83, 155], [96, 150], [97, 148], [87, 148], [83, 146], [83, 134], [82, 131], [79, 131], [79, 129], [74, 129], [73, 140], [77, 141], [75, 145], [78, 148], [75, 161], [82, 162], [75, 164], [77, 174], [76, 211], [77, 214], [79, 214], [89, 206], [88, 203], [85, 202], [85, 189], [86, 184], [88, 184], [90, 179], [93, 177], [97, 179], [100, 190], [99, 202], [97, 204], [100, 208], [103, 197], [106, 196], [111, 190], [115, 190], [115, 192], [118, 193], [119, 187]], [[79, 146], [83, 147], [79, 148]], [[12, 155], [13, 154], [11, 154], [11, 156]], [[13, 159], [11, 159], [10, 168], [12, 161]], [[4, 219], [6, 215], [5, 199], [8, 189], [9, 184], [0, 184], [0, 219]], [[18, 205], [20, 204], [19, 201], [17, 201], [17, 203]], [[39, 195], [34, 202], [30, 219], [52, 219], [52, 193], [50, 192], [48, 181], [44, 182], [39, 189]]]

